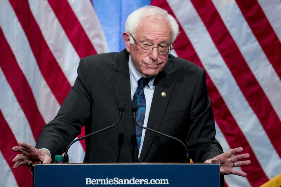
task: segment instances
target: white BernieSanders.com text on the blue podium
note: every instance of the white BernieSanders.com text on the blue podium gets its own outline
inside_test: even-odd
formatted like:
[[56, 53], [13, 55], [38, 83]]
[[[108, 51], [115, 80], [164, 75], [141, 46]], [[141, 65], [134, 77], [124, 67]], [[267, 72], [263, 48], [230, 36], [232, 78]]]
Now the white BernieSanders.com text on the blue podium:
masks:
[[128, 184], [128, 185], [165, 185], [169, 184], [168, 179], [135, 179], [135, 177], [131, 179], [119, 179], [118, 177], [115, 177], [113, 179], [91, 179], [91, 178], [85, 178], [86, 184], [92, 184], [92, 185], [122, 185], [122, 184]]

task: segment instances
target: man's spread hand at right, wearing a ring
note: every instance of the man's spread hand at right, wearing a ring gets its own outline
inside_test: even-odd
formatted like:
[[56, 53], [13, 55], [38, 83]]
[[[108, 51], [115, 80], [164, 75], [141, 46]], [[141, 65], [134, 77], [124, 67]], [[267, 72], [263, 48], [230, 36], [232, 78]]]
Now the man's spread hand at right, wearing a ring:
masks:
[[212, 160], [220, 160], [220, 174], [234, 174], [239, 176], [246, 176], [245, 172], [241, 172], [237, 169], [233, 169], [234, 167], [240, 167], [251, 164], [250, 160], [240, 161], [241, 159], [249, 158], [249, 153], [235, 155], [236, 153], [240, 153], [243, 151], [243, 148], [235, 148], [230, 149], [225, 153], [217, 155], [212, 159], [206, 160], [204, 163], [211, 163]]

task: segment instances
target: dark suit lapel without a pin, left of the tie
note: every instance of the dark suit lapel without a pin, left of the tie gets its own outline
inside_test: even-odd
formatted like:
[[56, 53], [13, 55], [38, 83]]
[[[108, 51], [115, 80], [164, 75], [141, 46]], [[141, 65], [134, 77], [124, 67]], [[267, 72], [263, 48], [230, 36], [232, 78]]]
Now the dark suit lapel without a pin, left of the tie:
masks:
[[137, 162], [138, 155], [136, 151], [136, 135], [131, 110], [132, 101], [128, 56], [129, 53], [121, 51], [120, 58], [116, 60], [116, 64], [113, 67], [113, 69], [117, 71], [117, 74], [111, 77], [111, 82], [117, 104], [119, 105], [121, 102], [125, 103], [125, 110], [122, 114], [121, 122], [124, 126], [128, 142], [130, 143], [132, 156]]

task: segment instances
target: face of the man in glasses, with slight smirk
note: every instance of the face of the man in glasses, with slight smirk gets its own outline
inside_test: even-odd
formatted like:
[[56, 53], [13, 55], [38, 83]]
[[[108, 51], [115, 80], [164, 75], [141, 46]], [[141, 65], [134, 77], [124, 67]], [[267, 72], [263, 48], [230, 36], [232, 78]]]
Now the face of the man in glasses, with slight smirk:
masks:
[[[126, 49], [131, 54], [131, 59], [136, 70], [145, 78], [156, 76], [161, 72], [168, 61], [168, 55], [160, 55], [157, 48], [151, 53], [139, 51], [139, 46], [129, 43], [129, 34], [123, 33]], [[154, 47], [172, 44], [172, 28], [164, 19], [155, 19], [149, 16], [141, 20], [136, 28], [136, 42], [152, 44]]]

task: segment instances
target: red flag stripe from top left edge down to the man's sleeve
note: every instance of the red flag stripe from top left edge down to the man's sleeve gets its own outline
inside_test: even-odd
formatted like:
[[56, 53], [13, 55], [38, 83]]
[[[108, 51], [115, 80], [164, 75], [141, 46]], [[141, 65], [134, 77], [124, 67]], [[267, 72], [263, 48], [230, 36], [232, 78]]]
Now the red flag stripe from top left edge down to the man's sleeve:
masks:
[[62, 104], [71, 86], [50, 51], [27, 0], [9, 0], [28, 38], [39, 69], [57, 101]]

